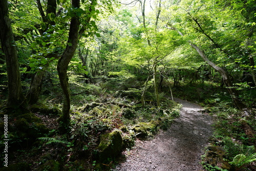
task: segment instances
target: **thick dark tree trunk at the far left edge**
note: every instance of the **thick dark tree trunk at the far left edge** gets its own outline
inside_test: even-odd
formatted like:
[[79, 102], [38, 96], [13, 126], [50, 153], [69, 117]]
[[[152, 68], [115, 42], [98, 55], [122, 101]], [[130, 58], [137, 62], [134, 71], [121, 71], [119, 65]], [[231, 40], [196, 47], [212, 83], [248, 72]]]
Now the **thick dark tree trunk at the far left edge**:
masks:
[[11, 20], [8, 17], [7, 0], [1, 0], [0, 7], [0, 38], [7, 66], [8, 106], [23, 106], [26, 108], [27, 106], [24, 103], [26, 100], [22, 93], [22, 84], [20, 82], [17, 49], [11, 28]]

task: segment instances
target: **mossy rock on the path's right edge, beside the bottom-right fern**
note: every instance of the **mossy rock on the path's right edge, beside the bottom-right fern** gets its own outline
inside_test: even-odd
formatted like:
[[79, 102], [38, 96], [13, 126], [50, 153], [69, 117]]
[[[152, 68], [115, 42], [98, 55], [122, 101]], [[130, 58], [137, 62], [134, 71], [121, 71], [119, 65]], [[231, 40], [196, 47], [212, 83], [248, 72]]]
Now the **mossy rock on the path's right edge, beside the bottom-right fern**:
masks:
[[204, 165], [218, 166], [222, 169], [231, 169], [231, 165], [225, 159], [226, 154], [222, 147], [216, 145], [209, 145], [208, 151], [205, 154]]

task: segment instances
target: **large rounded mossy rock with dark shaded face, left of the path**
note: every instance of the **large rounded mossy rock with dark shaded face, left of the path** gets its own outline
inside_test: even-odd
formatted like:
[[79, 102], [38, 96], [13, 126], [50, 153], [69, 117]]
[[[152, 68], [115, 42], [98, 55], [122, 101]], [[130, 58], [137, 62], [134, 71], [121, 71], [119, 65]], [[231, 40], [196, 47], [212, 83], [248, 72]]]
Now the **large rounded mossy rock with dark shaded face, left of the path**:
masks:
[[115, 158], [122, 151], [122, 136], [118, 130], [105, 135], [101, 135], [100, 144], [96, 147], [100, 162], [104, 162], [108, 158]]

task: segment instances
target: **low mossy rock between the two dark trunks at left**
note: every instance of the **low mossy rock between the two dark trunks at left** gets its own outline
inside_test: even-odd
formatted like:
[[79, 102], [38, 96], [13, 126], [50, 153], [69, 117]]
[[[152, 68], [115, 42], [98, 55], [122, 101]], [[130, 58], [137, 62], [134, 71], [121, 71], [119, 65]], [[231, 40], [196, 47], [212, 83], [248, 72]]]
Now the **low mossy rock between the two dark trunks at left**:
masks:
[[61, 110], [55, 106], [48, 107], [44, 104], [34, 104], [30, 107], [31, 112], [39, 112], [40, 114], [45, 115], [54, 115], [59, 116], [61, 114]]

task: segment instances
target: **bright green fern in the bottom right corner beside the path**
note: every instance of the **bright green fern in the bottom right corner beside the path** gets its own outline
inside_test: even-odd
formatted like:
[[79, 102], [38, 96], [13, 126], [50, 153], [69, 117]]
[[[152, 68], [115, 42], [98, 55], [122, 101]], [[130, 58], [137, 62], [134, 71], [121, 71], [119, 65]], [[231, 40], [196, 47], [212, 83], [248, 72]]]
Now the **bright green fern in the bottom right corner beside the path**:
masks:
[[255, 146], [247, 146], [232, 142], [231, 139], [226, 139], [224, 149], [232, 159], [230, 164], [236, 167], [236, 170], [244, 168], [245, 165], [256, 161]]

